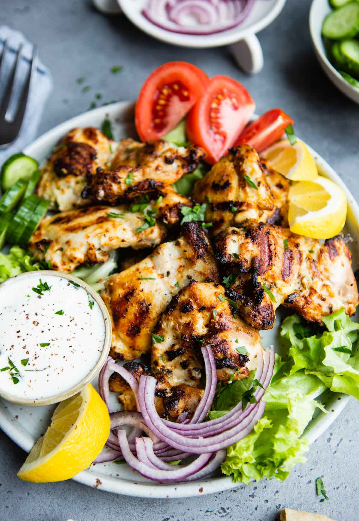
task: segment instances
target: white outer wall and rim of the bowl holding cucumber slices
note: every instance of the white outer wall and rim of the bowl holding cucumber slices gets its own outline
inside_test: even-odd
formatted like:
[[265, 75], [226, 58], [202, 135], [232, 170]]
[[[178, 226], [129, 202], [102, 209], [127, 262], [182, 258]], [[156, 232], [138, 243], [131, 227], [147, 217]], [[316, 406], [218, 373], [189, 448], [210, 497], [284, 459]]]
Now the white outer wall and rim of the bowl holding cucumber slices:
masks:
[[330, 81], [355, 103], [359, 103], [359, 89], [348, 83], [340, 72], [330, 63], [321, 38], [321, 26], [324, 18], [330, 13], [331, 7], [328, 0], [313, 0], [309, 15], [309, 28], [311, 31], [314, 52], [321, 68]]

